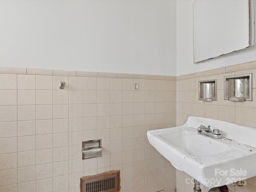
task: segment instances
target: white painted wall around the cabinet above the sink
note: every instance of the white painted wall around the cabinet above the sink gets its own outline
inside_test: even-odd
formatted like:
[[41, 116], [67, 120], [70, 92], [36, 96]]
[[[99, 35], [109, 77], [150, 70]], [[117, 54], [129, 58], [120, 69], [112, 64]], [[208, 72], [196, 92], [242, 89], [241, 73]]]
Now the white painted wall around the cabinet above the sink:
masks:
[[[177, 0], [177, 76], [256, 60], [256, 43], [250, 48], [194, 64], [193, 2]], [[254, 1], [254, 20], [256, 1]], [[254, 41], [256, 28], [254, 26]]]

